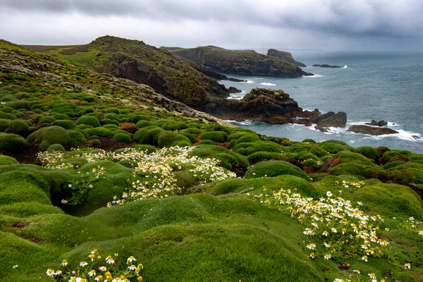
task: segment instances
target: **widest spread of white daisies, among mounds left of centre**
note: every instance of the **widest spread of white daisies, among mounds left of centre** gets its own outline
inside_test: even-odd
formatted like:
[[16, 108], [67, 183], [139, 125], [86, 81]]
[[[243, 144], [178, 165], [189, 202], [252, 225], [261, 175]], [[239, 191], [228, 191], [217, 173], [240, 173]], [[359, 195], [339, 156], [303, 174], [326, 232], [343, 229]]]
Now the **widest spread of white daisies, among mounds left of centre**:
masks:
[[[128, 161], [133, 168], [133, 176], [128, 179], [130, 189], [123, 192], [120, 199], [114, 196], [112, 202], [107, 204], [124, 204], [143, 199], [164, 198], [174, 195], [180, 190], [176, 184], [175, 171], [185, 171], [192, 173], [195, 180], [202, 183], [214, 180], [234, 178], [236, 174], [227, 171], [219, 166], [217, 159], [202, 159], [197, 156], [190, 156], [195, 147], [165, 147], [152, 154], [140, 149], [126, 148], [121, 152], [106, 152], [95, 150], [95, 152], [83, 152], [83, 149], [75, 149], [72, 152], [73, 158], [84, 159], [87, 162], [93, 161]], [[39, 154], [39, 160], [47, 168], [71, 168], [71, 164], [66, 164], [63, 152], [43, 152]], [[80, 171], [78, 171], [80, 173]], [[80, 180], [69, 184], [73, 190], [71, 199], [63, 199], [63, 204], [78, 204], [87, 190], [93, 187], [92, 183], [104, 174], [104, 168], [93, 168], [87, 175], [81, 174]]]

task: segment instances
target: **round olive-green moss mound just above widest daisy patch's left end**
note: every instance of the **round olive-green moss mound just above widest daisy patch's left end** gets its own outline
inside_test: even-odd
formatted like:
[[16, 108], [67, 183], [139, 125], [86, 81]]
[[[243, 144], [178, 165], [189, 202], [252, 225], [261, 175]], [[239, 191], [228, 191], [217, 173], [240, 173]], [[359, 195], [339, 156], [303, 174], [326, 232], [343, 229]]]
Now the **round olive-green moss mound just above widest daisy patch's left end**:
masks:
[[52, 144], [60, 144], [66, 147], [70, 140], [68, 131], [57, 125], [41, 128], [27, 137], [28, 142], [39, 142], [39, 148], [42, 150], [46, 150]]

